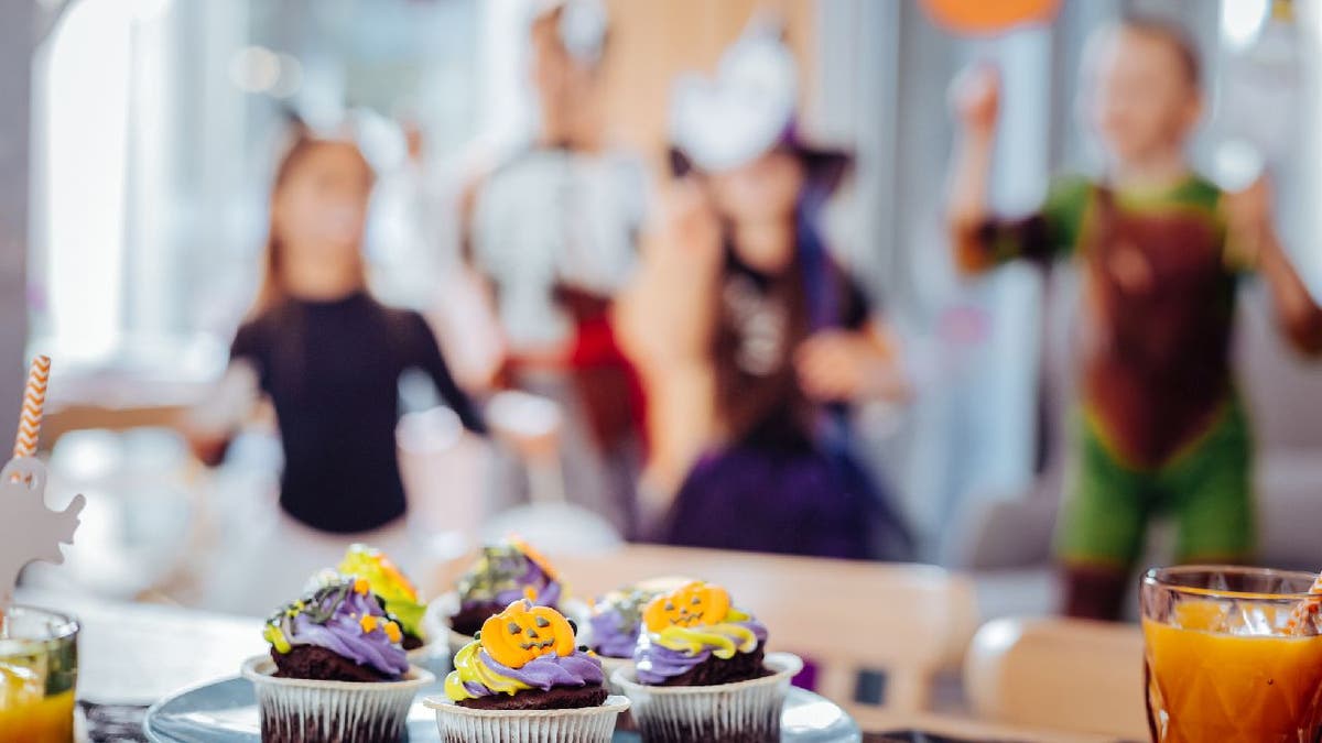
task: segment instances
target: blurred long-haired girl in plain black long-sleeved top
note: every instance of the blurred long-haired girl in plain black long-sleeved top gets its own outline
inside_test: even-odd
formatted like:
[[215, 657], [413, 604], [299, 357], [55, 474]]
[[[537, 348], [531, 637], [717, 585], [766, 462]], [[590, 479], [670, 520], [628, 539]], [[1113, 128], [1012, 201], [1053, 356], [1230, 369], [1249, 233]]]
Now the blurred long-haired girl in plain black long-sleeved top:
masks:
[[[255, 369], [284, 446], [280, 506], [301, 524], [360, 533], [405, 514], [395, 453], [399, 375], [420, 369], [484, 431], [415, 312], [368, 291], [362, 235], [373, 172], [350, 140], [300, 130], [275, 176], [260, 293], [230, 349]], [[233, 431], [196, 434], [205, 460]]]

